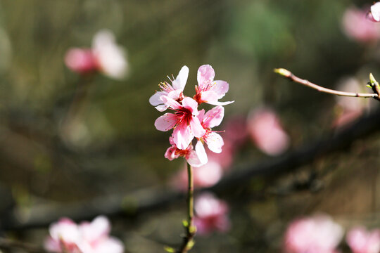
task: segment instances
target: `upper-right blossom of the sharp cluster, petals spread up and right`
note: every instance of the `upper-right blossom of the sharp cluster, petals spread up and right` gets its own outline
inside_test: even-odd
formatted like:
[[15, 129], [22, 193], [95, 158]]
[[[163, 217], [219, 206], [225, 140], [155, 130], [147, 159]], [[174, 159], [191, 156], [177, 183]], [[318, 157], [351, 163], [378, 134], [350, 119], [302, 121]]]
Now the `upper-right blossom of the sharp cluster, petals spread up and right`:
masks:
[[210, 65], [202, 65], [198, 68], [196, 95], [194, 99], [198, 103], [209, 103], [211, 105], [228, 105], [234, 101], [219, 102], [229, 89], [229, 84], [225, 81], [214, 81], [215, 72]]

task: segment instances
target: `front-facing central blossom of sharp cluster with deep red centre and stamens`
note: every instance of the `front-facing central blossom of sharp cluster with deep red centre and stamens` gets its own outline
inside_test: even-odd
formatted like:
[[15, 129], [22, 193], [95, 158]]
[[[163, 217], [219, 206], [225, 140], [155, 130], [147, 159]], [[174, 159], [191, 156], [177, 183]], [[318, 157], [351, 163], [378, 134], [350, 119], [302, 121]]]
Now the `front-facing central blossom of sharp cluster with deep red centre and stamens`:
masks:
[[193, 98], [185, 97], [182, 104], [167, 96], [161, 96], [163, 102], [175, 113], [165, 113], [158, 117], [154, 125], [160, 131], [169, 131], [174, 128], [173, 142], [179, 149], [186, 149], [194, 136], [200, 138], [205, 135], [205, 129], [198, 117], [198, 103]]

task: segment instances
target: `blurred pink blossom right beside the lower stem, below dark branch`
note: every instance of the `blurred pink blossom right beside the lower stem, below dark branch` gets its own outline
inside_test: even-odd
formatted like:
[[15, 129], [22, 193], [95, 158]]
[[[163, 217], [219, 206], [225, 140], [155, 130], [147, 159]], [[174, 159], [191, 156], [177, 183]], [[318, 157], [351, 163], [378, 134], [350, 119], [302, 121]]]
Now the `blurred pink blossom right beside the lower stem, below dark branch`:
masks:
[[227, 216], [228, 206], [211, 193], [203, 193], [196, 198], [194, 224], [199, 234], [206, 235], [213, 231], [228, 231], [231, 223]]

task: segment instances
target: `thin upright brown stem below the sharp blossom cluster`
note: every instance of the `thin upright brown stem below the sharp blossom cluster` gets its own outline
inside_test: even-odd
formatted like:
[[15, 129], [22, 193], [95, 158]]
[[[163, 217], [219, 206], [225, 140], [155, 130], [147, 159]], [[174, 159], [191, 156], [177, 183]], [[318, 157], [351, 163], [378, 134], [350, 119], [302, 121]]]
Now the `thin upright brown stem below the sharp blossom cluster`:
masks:
[[187, 189], [187, 223], [184, 224], [186, 228], [186, 235], [182, 245], [177, 250], [177, 253], [186, 253], [194, 245], [194, 235], [196, 233], [196, 227], [194, 226], [194, 179], [193, 179], [193, 168], [190, 164], [187, 164], [187, 179], [188, 179], [188, 189]]

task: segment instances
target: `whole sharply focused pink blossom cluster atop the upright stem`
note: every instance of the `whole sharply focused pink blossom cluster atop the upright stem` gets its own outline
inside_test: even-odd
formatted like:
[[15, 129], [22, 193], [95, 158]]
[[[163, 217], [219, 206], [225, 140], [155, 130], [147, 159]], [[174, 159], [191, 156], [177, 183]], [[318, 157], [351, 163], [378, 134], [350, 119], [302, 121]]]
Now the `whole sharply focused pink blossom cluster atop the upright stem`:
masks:
[[[219, 126], [224, 117], [222, 105], [228, 105], [234, 101], [220, 102], [229, 89], [225, 81], [215, 81], [215, 72], [210, 65], [202, 65], [198, 69], [198, 85], [195, 86], [196, 94], [191, 98], [184, 96], [189, 68], [184, 66], [171, 84], [162, 82], [160, 91], [156, 91], [149, 103], [158, 111], [171, 110], [158, 117], [155, 122], [156, 129], [169, 131], [173, 129], [169, 138], [170, 147], [165, 152], [168, 160], [184, 157], [193, 167], [201, 167], [208, 162], [208, 156], [203, 144], [214, 153], [221, 153], [224, 145], [222, 136], [213, 131], [213, 127]], [[216, 105], [205, 112], [198, 110], [198, 105], [208, 103]], [[191, 142], [196, 138], [195, 148]]]

